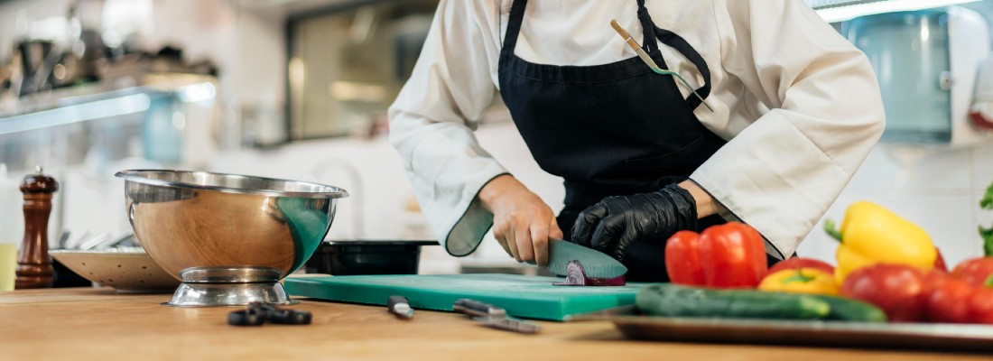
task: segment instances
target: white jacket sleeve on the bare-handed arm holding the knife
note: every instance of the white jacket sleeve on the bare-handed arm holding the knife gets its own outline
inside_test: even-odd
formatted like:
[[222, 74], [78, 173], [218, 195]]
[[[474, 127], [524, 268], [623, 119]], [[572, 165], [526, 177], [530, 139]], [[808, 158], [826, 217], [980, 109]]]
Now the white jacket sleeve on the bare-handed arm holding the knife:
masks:
[[389, 108], [389, 140], [446, 250], [472, 253], [493, 226], [477, 193], [506, 171], [474, 130], [495, 93], [493, 2], [442, 0], [420, 57]]

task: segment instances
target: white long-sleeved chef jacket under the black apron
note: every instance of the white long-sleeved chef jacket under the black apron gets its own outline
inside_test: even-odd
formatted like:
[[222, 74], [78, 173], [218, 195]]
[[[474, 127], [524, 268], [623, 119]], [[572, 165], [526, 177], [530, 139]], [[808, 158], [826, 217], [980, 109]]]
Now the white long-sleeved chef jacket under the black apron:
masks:
[[[498, 86], [510, 4], [442, 0], [389, 108], [390, 142], [455, 256], [472, 253], [493, 225], [477, 193], [506, 173], [473, 132]], [[690, 179], [729, 211], [726, 218], [758, 229], [771, 254], [792, 254], [882, 134], [869, 61], [801, 0], [648, 0], [646, 7], [657, 27], [684, 38], [710, 67], [713, 111], [699, 106], [695, 114], [728, 143]], [[531, 0], [514, 53], [556, 65], [636, 57], [610, 21], [642, 43], [637, 11], [635, 0]], [[703, 83], [690, 61], [659, 48], [670, 69], [695, 79], [694, 87]]]

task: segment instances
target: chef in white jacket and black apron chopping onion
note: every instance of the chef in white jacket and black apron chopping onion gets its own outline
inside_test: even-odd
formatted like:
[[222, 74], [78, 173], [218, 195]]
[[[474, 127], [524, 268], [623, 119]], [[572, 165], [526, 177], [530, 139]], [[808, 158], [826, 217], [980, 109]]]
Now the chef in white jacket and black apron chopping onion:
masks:
[[[474, 136], [495, 89], [564, 180], [558, 214]], [[518, 261], [561, 237], [665, 281], [681, 229], [738, 220], [793, 254], [884, 113], [869, 61], [801, 0], [442, 0], [389, 121], [450, 254], [493, 227]]]

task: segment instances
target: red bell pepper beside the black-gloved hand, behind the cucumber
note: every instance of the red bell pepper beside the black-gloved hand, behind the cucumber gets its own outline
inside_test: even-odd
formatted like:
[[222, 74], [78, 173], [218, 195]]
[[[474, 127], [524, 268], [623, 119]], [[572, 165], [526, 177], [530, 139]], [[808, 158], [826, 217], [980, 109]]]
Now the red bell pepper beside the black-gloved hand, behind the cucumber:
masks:
[[679, 231], [665, 244], [665, 270], [673, 284], [755, 288], [766, 276], [766, 243], [759, 231], [728, 222], [700, 234]]

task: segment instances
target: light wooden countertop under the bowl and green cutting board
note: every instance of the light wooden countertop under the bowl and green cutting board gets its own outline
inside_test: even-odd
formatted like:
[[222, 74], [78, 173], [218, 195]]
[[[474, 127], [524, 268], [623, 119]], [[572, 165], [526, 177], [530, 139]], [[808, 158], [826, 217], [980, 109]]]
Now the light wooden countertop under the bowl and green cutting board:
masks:
[[612, 323], [538, 322], [523, 335], [462, 315], [300, 300], [313, 324], [227, 325], [232, 307], [163, 306], [170, 295], [111, 289], [0, 293], [4, 360], [989, 360], [989, 355], [626, 340]]

